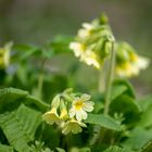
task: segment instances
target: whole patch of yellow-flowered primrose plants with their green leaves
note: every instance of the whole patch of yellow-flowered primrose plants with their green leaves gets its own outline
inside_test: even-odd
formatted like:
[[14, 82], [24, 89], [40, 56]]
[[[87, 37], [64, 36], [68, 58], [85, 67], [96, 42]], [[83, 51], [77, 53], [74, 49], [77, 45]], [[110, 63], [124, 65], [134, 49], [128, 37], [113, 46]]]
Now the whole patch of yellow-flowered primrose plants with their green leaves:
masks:
[[[71, 55], [76, 59], [66, 75], [52, 69], [52, 60], [62, 58], [62, 69]], [[99, 73], [94, 89], [75, 79], [85, 64]], [[42, 47], [5, 43], [0, 152], [151, 152], [152, 97], [137, 99], [129, 81], [149, 64], [115, 39], [104, 14], [83, 23], [75, 37], [56, 37]], [[84, 75], [89, 84], [91, 75]]]

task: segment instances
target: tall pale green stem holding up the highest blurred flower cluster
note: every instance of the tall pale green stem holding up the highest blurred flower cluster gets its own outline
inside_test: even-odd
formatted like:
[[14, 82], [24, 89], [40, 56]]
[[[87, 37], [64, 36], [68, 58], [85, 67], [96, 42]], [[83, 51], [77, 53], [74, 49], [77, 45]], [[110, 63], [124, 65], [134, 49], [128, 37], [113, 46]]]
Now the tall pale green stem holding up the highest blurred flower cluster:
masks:
[[104, 114], [109, 114], [110, 103], [111, 103], [111, 89], [113, 81], [113, 73], [114, 73], [114, 64], [115, 64], [115, 50], [114, 42], [112, 42], [112, 53], [110, 58], [110, 63], [107, 65], [107, 75], [105, 80], [105, 106]]

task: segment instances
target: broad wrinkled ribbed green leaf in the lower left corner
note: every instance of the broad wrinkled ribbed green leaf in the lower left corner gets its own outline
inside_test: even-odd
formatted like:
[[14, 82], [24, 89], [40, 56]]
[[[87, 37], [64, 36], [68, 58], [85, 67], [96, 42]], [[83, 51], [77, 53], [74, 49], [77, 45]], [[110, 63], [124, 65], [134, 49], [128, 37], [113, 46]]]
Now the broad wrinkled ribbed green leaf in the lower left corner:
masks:
[[29, 141], [41, 123], [41, 113], [21, 105], [17, 111], [0, 115], [2, 128], [9, 143], [20, 152], [30, 152]]

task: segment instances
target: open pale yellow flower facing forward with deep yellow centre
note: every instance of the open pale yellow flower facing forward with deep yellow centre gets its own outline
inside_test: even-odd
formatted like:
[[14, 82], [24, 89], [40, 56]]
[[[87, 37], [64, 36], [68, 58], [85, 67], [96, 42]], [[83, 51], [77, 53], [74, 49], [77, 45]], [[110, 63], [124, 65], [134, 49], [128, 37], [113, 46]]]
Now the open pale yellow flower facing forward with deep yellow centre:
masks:
[[72, 109], [69, 110], [69, 117], [74, 117], [76, 115], [77, 121], [86, 119], [87, 112], [91, 112], [93, 110], [94, 103], [90, 100], [90, 96], [83, 94], [80, 98], [76, 98], [73, 101]]

